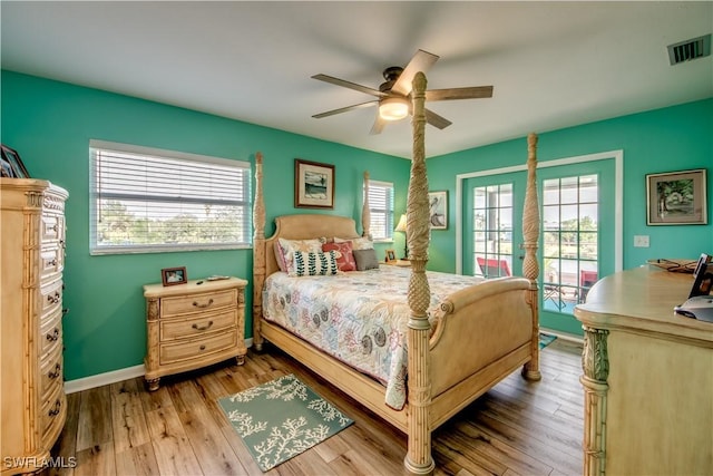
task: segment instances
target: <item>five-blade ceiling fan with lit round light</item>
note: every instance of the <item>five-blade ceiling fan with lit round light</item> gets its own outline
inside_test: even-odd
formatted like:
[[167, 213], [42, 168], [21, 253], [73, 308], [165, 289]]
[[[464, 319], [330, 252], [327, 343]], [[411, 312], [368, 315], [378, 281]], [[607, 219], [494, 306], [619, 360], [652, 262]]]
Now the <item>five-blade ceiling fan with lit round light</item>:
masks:
[[[349, 89], [354, 89], [360, 93], [365, 93], [371, 96], [378, 97], [378, 99], [367, 103], [355, 104], [352, 106], [341, 107], [339, 109], [328, 110], [325, 113], [315, 114], [314, 118], [320, 119], [322, 117], [333, 116], [335, 114], [346, 113], [349, 110], [361, 109], [363, 107], [379, 106], [379, 113], [377, 114], [377, 120], [371, 127], [371, 134], [380, 134], [383, 130], [388, 122], [403, 119], [411, 114], [411, 100], [409, 95], [411, 94], [413, 77], [418, 71], [426, 74], [431, 66], [438, 60], [438, 56], [428, 51], [418, 50], [411, 61], [401, 68], [400, 66], [390, 66], [383, 70], [383, 78], [385, 79], [379, 86], [379, 89], [370, 88], [368, 86], [350, 82], [344, 79], [334, 78], [328, 75], [314, 75], [312, 78], [321, 81], [331, 82], [336, 86], [342, 86]], [[426, 100], [451, 100], [451, 99], [477, 99], [492, 97], [492, 86], [473, 86], [466, 88], [450, 88], [450, 89], [431, 89], [426, 91]], [[432, 110], [426, 109], [426, 122], [439, 129], [445, 129], [452, 123], [445, 117], [439, 116]]]

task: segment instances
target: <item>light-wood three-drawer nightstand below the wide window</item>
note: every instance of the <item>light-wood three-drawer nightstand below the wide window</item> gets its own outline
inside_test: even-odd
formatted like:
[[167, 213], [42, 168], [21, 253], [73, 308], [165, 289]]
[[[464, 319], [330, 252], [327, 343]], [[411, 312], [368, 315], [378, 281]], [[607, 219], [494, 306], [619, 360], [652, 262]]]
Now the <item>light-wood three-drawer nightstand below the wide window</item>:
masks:
[[[198, 284], [199, 283], [199, 284]], [[245, 362], [245, 286], [238, 278], [144, 286], [146, 383], [234, 357]]]

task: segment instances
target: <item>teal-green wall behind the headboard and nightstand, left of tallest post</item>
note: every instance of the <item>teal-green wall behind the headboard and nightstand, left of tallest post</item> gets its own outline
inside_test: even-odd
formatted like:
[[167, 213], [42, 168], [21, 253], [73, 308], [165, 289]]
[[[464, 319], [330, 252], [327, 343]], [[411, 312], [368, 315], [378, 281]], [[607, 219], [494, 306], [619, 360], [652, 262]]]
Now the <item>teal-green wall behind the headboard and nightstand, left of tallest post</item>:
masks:
[[[12, 71], [2, 71], [1, 80], [2, 143], [20, 153], [32, 177], [69, 191], [64, 301], [69, 309], [64, 321], [67, 380], [143, 362], [141, 286], [160, 282], [162, 268], [185, 265], [189, 279], [231, 274], [252, 280], [252, 250], [90, 256], [89, 139], [253, 164], [254, 154], [262, 152], [267, 234], [274, 231], [274, 216], [294, 213], [346, 215], [360, 224], [364, 169], [373, 179], [393, 182], [395, 210], [406, 208], [410, 162], [403, 158]], [[294, 208], [295, 158], [334, 164], [333, 211]], [[403, 247], [402, 239], [389, 247], [399, 246]], [[252, 286], [246, 294], [246, 337], [251, 337]]]

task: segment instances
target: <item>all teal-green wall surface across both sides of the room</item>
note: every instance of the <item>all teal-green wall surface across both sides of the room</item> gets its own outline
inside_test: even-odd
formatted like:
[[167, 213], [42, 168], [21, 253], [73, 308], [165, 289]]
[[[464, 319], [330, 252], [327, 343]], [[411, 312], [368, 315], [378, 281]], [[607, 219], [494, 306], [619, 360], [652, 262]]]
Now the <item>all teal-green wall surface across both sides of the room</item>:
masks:
[[[30, 175], [52, 181], [70, 193], [67, 204], [65, 269], [65, 378], [89, 377], [140, 365], [145, 354], [141, 285], [158, 282], [159, 270], [185, 265], [189, 278], [233, 274], [252, 279], [252, 250], [89, 255], [89, 139], [254, 163], [265, 157], [266, 233], [276, 215], [293, 207], [294, 158], [335, 165], [334, 213], [360, 221], [361, 177], [393, 182], [397, 215], [406, 210], [410, 163], [402, 158], [285, 133], [267, 127], [2, 71], [2, 143], [16, 148]], [[311, 120], [305, 118], [305, 120]], [[430, 134], [438, 134], [429, 128]], [[538, 132], [539, 133], [539, 132]], [[540, 133], [540, 161], [624, 150], [624, 268], [649, 258], [713, 253], [713, 223], [705, 226], [646, 226], [648, 173], [709, 169], [709, 221], [713, 196], [713, 98]], [[527, 157], [526, 138], [462, 150], [427, 161], [430, 190], [449, 191], [449, 226], [431, 233], [429, 269], [455, 271], [456, 175], [510, 165]], [[312, 213], [313, 211], [307, 210]], [[633, 236], [651, 236], [651, 247], [633, 247]], [[392, 245], [403, 249], [401, 233]], [[252, 336], [247, 290], [246, 336]]]

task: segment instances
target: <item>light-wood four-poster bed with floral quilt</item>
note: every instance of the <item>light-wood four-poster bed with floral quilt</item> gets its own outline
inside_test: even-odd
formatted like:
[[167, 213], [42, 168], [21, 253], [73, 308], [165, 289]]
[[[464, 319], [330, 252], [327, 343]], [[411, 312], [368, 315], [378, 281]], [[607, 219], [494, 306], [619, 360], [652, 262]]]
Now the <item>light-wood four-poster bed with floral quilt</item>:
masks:
[[[360, 236], [369, 236], [368, 191], [364, 193], [361, 234], [352, 218], [304, 214], [276, 217], [274, 234], [265, 237], [263, 157], [260, 153], [256, 156], [253, 217], [255, 348], [262, 350], [264, 340], [272, 342], [404, 431], [408, 436], [404, 466], [416, 474], [433, 469], [431, 431], [439, 425], [520, 366], [524, 366], [525, 378], [540, 379], [536, 136], [528, 138], [525, 278], [485, 281], [427, 273], [430, 231], [423, 143], [424, 90], [426, 77], [418, 74], [412, 93], [413, 158], [407, 207], [410, 269], [377, 266], [302, 278], [281, 272], [281, 265], [290, 264], [285, 263], [281, 247], [287, 243], [284, 240], [363, 242]], [[368, 188], [368, 173], [364, 181]], [[293, 265], [301, 264], [297, 254], [305, 260], [307, 255], [314, 256], [311, 252], [295, 251], [291, 255], [295, 259]], [[324, 253], [316, 254], [325, 259]], [[292, 269], [291, 273], [294, 271]], [[355, 276], [355, 281], [350, 282], [348, 275]], [[385, 295], [378, 298], [379, 290]], [[350, 298], [350, 293], [354, 295]], [[356, 303], [352, 308], [346, 303], [350, 299]], [[375, 318], [358, 314], [364, 310]], [[344, 322], [351, 323], [352, 328], [332, 327]], [[326, 338], [328, 342], [319, 344], [320, 338]], [[375, 354], [377, 363], [367, 362], [367, 354]], [[351, 362], [352, 357], [358, 361]]]

